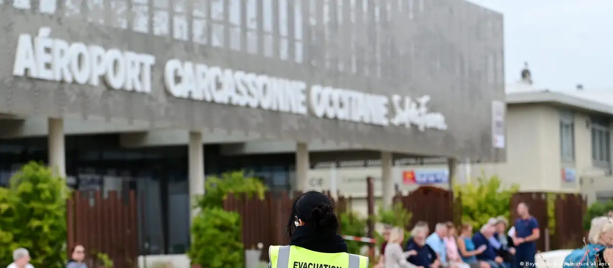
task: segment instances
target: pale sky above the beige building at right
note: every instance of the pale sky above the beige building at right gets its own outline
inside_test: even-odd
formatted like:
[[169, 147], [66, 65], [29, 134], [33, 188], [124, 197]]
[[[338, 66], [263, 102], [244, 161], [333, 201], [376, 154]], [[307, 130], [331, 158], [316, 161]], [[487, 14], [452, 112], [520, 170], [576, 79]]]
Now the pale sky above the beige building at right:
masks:
[[504, 14], [506, 83], [528, 62], [536, 87], [613, 91], [613, 1], [469, 1]]

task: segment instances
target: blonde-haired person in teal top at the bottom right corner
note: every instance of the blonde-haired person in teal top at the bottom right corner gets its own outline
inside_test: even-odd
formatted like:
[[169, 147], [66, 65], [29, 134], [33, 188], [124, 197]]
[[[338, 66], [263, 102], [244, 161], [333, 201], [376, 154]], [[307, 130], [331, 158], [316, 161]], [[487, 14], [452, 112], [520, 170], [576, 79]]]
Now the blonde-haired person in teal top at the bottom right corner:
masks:
[[564, 259], [563, 267], [609, 267], [613, 261], [613, 248], [609, 247], [613, 247], [613, 218], [593, 218], [587, 244], [571, 251]]

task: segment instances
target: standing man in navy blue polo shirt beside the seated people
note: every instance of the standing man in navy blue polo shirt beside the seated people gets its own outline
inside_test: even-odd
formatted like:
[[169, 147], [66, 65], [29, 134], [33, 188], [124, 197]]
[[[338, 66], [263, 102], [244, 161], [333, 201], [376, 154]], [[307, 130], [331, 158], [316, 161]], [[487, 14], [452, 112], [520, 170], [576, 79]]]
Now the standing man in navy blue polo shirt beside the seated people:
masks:
[[516, 267], [535, 267], [535, 241], [541, 237], [538, 221], [530, 215], [527, 204], [523, 202], [517, 204], [517, 215], [519, 218], [515, 221], [515, 234], [512, 236]]

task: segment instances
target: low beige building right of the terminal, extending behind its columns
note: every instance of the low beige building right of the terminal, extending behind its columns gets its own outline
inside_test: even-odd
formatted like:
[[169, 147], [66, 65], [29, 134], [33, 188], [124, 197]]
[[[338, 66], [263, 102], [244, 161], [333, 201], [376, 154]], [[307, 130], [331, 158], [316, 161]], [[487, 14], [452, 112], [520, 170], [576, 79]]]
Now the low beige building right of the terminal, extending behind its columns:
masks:
[[[582, 193], [588, 203], [613, 198], [613, 176], [611, 175], [611, 131], [613, 119], [613, 94], [605, 91], [513, 91], [507, 95], [507, 159], [504, 163], [472, 163], [460, 161], [454, 182], [462, 184], [471, 179], [498, 176], [505, 185], [517, 184], [523, 192]], [[611, 109], [611, 110], [607, 110]], [[604, 123], [604, 124], [603, 124]], [[563, 153], [563, 124], [572, 126], [570, 136], [572, 157]], [[604, 128], [601, 128], [603, 126]], [[603, 130], [594, 132], [594, 130]], [[594, 143], [594, 138], [604, 136], [605, 141]], [[600, 138], [602, 140], [602, 138]], [[605, 161], [598, 160], [594, 151], [603, 152]], [[609, 160], [606, 160], [607, 156]], [[403, 172], [412, 170], [447, 169], [443, 158], [425, 163], [396, 164], [392, 177], [397, 190], [408, 193], [419, 187], [403, 182]], [[563, 175], [571, 171], [574, 177]], [[327, 167], [310, 171], [310, 185], [316, 189], [327, 189], [331, 184], [331, 171]], [[381, 167], [346, 166], [333, 171], [344, 196], [352, 196], [352, 208], [365, 214], [365, 177], [375, 177], [375, 195], [381, 198], [383, 184]], [[448, 188], [447, 184], [435, 184]], [[379, 199], [379, 202], [382, 202]]]

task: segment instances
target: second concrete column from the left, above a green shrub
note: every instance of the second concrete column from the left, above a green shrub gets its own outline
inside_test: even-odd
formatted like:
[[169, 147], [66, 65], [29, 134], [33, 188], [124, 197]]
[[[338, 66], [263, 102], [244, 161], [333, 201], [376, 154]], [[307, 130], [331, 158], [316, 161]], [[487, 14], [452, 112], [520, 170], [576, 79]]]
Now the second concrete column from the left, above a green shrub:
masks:
[[[204, 149], [201, 132], [189, 132], [189, 200], [194, 205], [198, 196], [204, 195]], [[192, 209], [192, 218], [198, 214]], [[190, 221], [191, 222], [191, 221]]]

